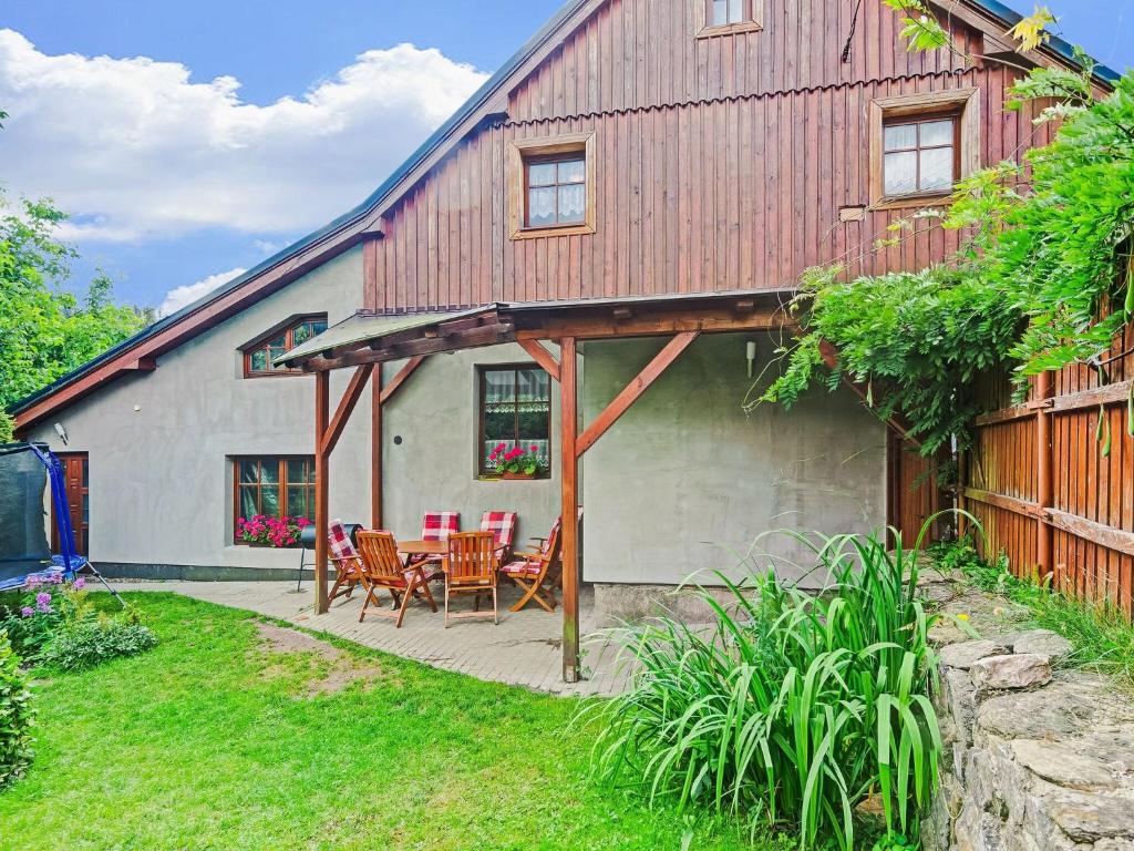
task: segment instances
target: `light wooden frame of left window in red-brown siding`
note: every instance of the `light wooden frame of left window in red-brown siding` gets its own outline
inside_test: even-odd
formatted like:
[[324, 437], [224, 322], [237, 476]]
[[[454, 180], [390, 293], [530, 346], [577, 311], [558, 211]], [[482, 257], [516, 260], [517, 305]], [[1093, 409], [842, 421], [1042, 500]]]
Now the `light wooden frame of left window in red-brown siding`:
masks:
[[[533, 239], [547, 236], [577, 236], [596, 231], [598, 159], [595, 134], [574, 133], [541, 138], [513, 140], [508, 145], [508, 236]], [[581, 224], [527, 226], [528, 170], [535, 162], [561, 161], [582, 154], [585, 179], [585, 209]]]

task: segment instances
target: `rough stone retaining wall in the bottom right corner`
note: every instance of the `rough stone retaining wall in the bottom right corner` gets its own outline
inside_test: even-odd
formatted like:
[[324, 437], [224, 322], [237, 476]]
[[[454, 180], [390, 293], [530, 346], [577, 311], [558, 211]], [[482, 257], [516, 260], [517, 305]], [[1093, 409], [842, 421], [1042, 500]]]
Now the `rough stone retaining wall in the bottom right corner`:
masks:
[[1073, 648], [1056, 633], [998, 634], [1006, 605], [967, 592], [945, 606], [992, 629], [938, 631], [946, 759], [925, 851], [1134, 851], [1134, 700], [1061, 668]]

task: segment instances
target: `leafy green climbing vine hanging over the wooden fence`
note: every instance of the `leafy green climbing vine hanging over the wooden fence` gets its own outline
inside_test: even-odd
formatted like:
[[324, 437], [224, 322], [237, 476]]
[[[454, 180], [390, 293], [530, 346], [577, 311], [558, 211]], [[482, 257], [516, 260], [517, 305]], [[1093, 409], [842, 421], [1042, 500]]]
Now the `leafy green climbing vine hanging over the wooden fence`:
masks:
[[[949, 43], [917, 0], [885, 1], [903, 16], [911, 49]], [[1009, 34], [1030, 49], [1051, 20], [1036, 9]], [[840, 266], [805, 273], [792, 305], [801, 334], [780, 349], [781, 372], [753, 406], [790, 406], [814, 384], [833, 389], [849, 378], [932, 455], [970, 445], [984, 376], [1009, 372], [1021, 395], [1030, 376], [1070, 364], [1106, 377], [1115, 337], [1134, 317], [1134, 75], [1095, 100], [1093, 65], [1076, 57], [1077, 69], [1036, 68], [1009, 89], [1009, 109], [1048, 103], [1035, 120], [1060, 121], [1051, 144], [966, 178], [948, 209], [896, 222], [875, 246], [945, 227], [965, 236], [955, 256], [849, 281]], [[838, 353], [833, 366], [824, 343]], [[1134, 429], [1134, 399], [1131, 408]]]

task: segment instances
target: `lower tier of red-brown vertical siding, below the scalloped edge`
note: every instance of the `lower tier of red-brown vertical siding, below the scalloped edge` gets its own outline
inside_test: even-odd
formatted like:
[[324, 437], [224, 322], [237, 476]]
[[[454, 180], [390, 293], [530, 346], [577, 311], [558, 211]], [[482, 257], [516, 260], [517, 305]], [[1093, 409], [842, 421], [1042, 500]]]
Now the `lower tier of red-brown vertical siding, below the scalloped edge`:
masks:
[[[386, 238], [367, 264], [366, 306], [773, 288], [832, 261], [853, 275], [924, 267], [957, 247], [956, 233], [922, 222], [916, 236], [879, 253], [871, 246], [911, 210], [839, 220], [839, 208], [868, 203], [868, 106], [981, 86], [982, 160], [996, 162], [1046, 134], [1027, 110], [1002, 109], [1009, 82], [1002, 69], [971, 69], [509, 120], [458, 145], [387, 212]], [[586, 132], [598, 151], [596, 233], [510, 239], [506, 193], [517, 176], [507, 172], [507, 145]]]

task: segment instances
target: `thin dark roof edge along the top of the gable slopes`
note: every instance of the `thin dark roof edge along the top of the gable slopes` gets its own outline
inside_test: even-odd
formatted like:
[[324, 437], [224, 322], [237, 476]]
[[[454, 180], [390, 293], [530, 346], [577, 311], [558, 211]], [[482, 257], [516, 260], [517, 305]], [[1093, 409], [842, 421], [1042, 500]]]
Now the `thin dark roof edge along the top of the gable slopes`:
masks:
[[[18, 414], [20, 411], [31, 407], [40, 399], [50, 396], [57, 390], [62, 389], [67, 385], [76, 381], [77, 379], [82, 378], [92, 370], [101, 366], [108, 361], [113, 360], [119, 354], [122, 354], [124, 352], [133, 348], [137, 344], [145, 342], [146, 339], [160, 334], [161, 331], [166, 330], [167, 328], [174, 325], [177, 325], [181, 319], [194, 313], [195, 311], [200, 310], [206, 304], [210, 304], [211, 302], [223, 297], [225, 295], [231, 293], [235, 289], [239, 289], [245, 284], [254, 280], [257, 276], [262, 275], [269, 269], [272, 269], [279, 266], [280, 263], [286, 262], [288, 259], [294, 256], [298, 252], [303, 251], [304, 248], [308, 247], [313, 243], [319, 242], [323, 237], [345, 227], [346, 225], [349, 225], [350, 222], [357, 221], [366, 213], [371, 212], [374, 208], [382, 204], [390, 197], [390, 195], [392, 195], [398, 189], [399, 185], [406, 178], [407, 175], [413, 172], [431, 153], [433, 153], [439, 146], [441, 146], [460, 124], [463, 124], [465, 120], [469, 118], [469, 116], [472, 116], [474, 112], [481, 109], [489, 101], [491, 95], [508, 79], [508, 77], [510, 77], [511, 74], [517, 68], [519, 68], [527, 60], [527, 58], [531, 57], [544, 43], [544, 41], [559, 28], [559, 26], [565, 20], [567, 20], [572, 15], [574, 15], [579, 8], [585, 6], [587, 1], [589, 0], [567, 0], [567, 2], [559, 9], [559, 11], [556, 12], [556, 15], [547, 24], [544, 24], [540, 28], [540, 31], [534, 36], [532, 36], [532, 39], [528, 40], [528, 42], [523, 48], [517, 50], [511, 56], [511, 58], [507, 62], [505, 62], [503, 66], [496, 74], [493, 74], [484, 83], [484, 85], [482, 85], [464, 103], [464, 106], [462, 106], [460, 109], [458, 109], [449, 118], [449, 120], [447, 120], [445, 124], [438, 127], [438, 129], [429, 138], [425, 140], [425, 142], [421, 145], [421, 148], [414, 151], [409, 155], [409, 159], [407, 159], [404, 163], [401, 163], [401, 166], [399, 166], [393, 171], [393, 174], [391, 174], [382, 183], [382, 185], [379, 186], [376, 189], [374, 189], [374, 192], [371, 193], [370, 196], [366, 197], [366, 200], [363, 201], [361, 204], [349, 210], [348, 212], [344, 213], [342, 216], [339, 216], [333, 221], [328, 222], [318, 230], [307, 234], [302, 239], [293, 243], [291, 245], [278, 252], [277, 254], [273, 254], [272, 256], [268, 258], [266, 260], [253, 267], [243, 275], [232, 278], [227, 284], [218, 287], [208, 295], [198, 298], [196, 302], [193, 302], [192, 304], [183, 307], [176, 313], [171, 313], [170, 315], [158, 320], [150, 327], [145, 328], [144, 330], [130, 337], [129, 339], [119, 343], [113, 348], [110, 348], [107, 352], [103, 352], [98, 357], [87, 361], [78, 369], [68, 372], [67, 374], [62, 376], [61, 378], [57, 379], [52, 384], [44, 387], [42, 390], [37, 390], [36, 393], [33, 393], [29, 396], [24, 397], [16, 404], [11, 405], [9, 407], [9, 411], [14, 414]], [[1005, 6], [1001, 2], [998, 2], [997, 0], [963, 0], [963, 1], [979, 9], [982, 9], [987, 14], [993, 16], [995, 18], [1000, 20], [1006, 27], [1014, 26], [1023, 17], [1019, 12], [1008, 8], [1007, 6]], [[1061, 57], [1064, 60], [1069, 62], [1075, 62], [1072, 47], [1063, 39], [1052, 37], [1047, 47], [1056, 54]], [[1100, 81], [1102, 81], [1107, 85], [1112, 85], [1120, 76], [1118, 73], [1116, 73], [1111, 68], [1108, 68], [1105, 65], [1095, 66], [1094, 74]]]

